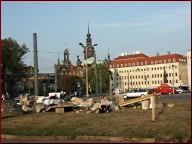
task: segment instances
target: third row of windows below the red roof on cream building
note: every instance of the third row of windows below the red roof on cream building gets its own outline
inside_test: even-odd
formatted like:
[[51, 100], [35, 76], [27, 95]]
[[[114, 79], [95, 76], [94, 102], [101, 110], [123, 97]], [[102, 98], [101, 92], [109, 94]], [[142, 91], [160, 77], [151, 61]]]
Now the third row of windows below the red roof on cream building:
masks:
[[[172, 80], [169, 80], [169, 83], [172, 83], [173, 81]], [[152, 81], [151, 82], [152, 84], [162, 84], [163, 83], [163, 81], [162, 80], [157, 80], [157, 81]], [[174, 83], [178, 83], [178, 80], [176, 79], [175, 81], [174, 81]], [[117, 85], [118, 85], [119, 83], [117, 83]], [[130, 83], [128, 83], [128, 82], [125, 82], [124, 83], [124, 85], [126, 86], [126, 85], [149, 85], [149, 81], [139, 81], [139, 82], [130, 82]]]

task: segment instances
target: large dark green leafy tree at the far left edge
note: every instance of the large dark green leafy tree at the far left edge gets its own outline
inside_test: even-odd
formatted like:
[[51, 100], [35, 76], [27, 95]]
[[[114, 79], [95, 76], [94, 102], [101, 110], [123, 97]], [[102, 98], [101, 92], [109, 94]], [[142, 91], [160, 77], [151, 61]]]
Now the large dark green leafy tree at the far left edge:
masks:
[[[24, 55], [29, 51], [25, 44], [19, 45], [18, 42], [12, 38], [5, 38], [2, 42], [2, 79], [6, 84], [6, 92], [10, 96], [16, 93], [17, 82], [21, 82], [25, 77], [25, 64], [23, 62]], [[5, 92], [5, 90], [4, 90]]]

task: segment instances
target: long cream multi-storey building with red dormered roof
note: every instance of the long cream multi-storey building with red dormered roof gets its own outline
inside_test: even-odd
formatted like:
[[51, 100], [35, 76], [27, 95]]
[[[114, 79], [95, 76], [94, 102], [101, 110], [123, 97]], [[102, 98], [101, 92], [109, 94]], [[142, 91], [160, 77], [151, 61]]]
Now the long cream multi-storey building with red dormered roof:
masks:
[[126, 53], [109, 62], [113, 73], [112, 87], [123, 91], [133, 88], [155, 88], [162, 83], [178, 87], [187, 84], [187, 59], [180, 54], [147, 56]]

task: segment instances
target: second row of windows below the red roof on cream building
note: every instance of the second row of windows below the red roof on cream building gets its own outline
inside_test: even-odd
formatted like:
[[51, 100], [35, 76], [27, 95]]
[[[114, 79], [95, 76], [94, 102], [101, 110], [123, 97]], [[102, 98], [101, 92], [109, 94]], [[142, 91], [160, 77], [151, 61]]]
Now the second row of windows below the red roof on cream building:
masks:
[[[168, 75], [167, 75], [168, 77], [173, 77], [173, 73], [169, 73]], [[177, 73], [175, 73], [175, 76], [177, 76]], [[159, 77], [163, 77], [163, 74], [152, 74], [151, 75], [151, 78], [159, 78]], [[117, 80], [118, 80], [118, 78], [119, 78], [119, 80], [126, 80], [126, 79], [147, 79], [147, 78], [149, 78], [149, 75], [136, 75], [136, 76], [119, 76], [119, 77], [117, 77]]]

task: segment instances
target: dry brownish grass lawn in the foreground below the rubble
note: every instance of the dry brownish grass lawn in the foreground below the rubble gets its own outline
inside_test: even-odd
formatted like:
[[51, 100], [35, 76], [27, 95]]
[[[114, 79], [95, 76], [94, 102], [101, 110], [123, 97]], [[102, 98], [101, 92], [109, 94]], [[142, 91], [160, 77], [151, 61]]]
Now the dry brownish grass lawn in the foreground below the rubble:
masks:
[[124, 136], [138, 138], [172, 137], [190, 139], [191, 103], [175, 103], [173, 108], [156, 109], [158, 116], [151, 121], [151, 110], [123, 108], [108, 114], [54, 112], [32, 113], [2, 119], [2, 133], [23, 136]]

